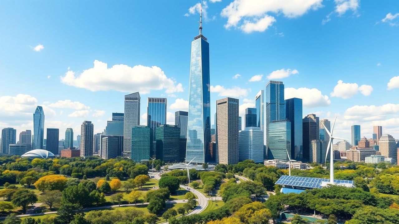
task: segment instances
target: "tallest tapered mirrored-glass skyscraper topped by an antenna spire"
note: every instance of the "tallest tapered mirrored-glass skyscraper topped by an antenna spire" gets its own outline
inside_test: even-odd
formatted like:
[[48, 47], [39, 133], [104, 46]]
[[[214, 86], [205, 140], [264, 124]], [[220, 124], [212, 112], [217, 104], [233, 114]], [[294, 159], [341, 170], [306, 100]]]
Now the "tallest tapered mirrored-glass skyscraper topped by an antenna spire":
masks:
[[[209, 83], [209, 43], [202, 35], [202, 22], [199, 22], [199, 35], [191, 43], [190, 90], [188, 96], [188, 128], [186, 160], [205, 163], [211, 140], [211, 97]], [[238, 118], [237, 118], [238, 121]], [[238, 131], [237, 131], [238, 135]]]

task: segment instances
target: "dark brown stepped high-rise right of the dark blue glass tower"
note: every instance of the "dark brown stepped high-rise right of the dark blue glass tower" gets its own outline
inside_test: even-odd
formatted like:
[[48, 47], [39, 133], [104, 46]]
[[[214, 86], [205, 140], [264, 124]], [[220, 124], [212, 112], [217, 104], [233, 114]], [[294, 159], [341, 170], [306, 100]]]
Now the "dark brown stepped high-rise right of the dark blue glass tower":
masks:
[[320, 139], [320, 122], [315, 114], [308, 114], [302, 119], [303, 161], [310, 161], [310, 145], [312, 140]]

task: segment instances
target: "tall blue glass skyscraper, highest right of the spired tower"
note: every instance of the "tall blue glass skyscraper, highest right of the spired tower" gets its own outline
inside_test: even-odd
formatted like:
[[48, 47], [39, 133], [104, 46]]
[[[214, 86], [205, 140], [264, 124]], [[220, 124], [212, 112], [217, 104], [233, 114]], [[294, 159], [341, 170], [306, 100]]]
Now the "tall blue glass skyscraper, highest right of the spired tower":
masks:
[[285, 120], [284, 84], [269, 81], [265, 91], [266, 108], [266, 148], [269, 146], [269, 125], [275, 120]]

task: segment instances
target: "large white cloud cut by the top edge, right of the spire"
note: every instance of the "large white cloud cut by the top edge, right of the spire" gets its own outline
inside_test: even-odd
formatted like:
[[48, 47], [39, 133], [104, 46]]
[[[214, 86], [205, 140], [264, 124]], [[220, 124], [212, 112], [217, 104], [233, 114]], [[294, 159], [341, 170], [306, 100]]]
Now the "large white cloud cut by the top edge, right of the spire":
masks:
[[222, 10], [221, 16], [227, 18], [226, 29], [233, 27], [250, 33], [265, 31], [276, 21], [269, 13], [296, 18], [320, 7], [322, 0], [234, 0]]

